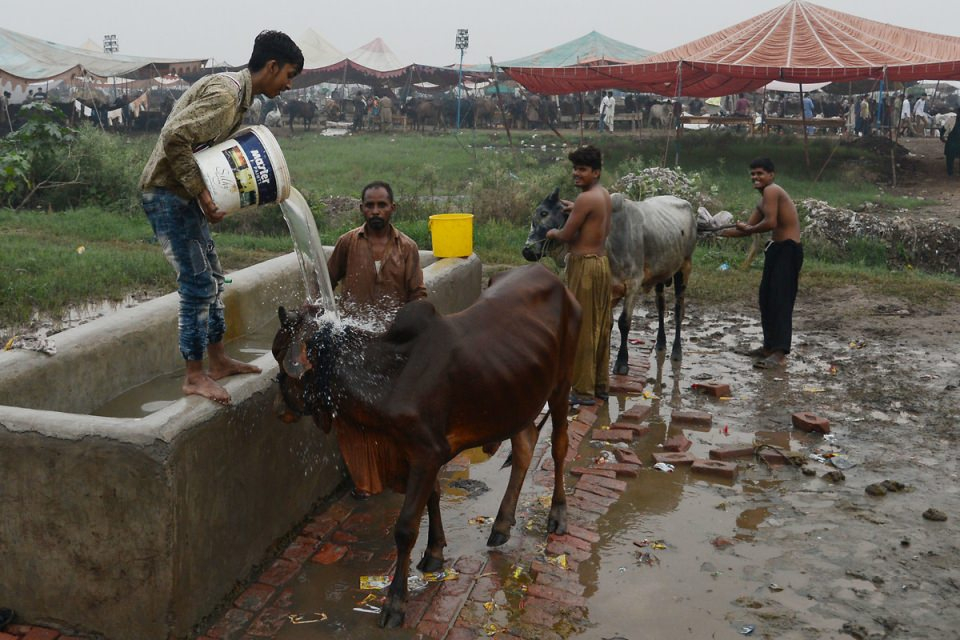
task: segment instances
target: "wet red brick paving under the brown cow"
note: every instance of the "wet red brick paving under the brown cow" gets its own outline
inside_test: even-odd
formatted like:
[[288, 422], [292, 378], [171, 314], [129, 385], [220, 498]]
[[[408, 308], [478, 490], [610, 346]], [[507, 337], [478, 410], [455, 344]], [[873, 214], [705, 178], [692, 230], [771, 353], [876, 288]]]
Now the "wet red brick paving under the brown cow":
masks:
[[[629, 390], [621, 391], [623, 395], [641, 393], [647, 380], [650, 349], [634, 347], [631, 351], [631, 375], [616, 376], [615, 381], [618, 388]], [[584, 457], [580, 445], [585, 437], [607, 441], [640, 437], [645, 427], [639, 422], [648, 413], [638, 406], [632, 416], [627, 412], [625, 421], [616, 428], [602, 429], [599, 427], [605, 425], [595, 424], [597, 409], [582, 407], [570, 420], [566, 535], [545, 532], [549, 502], [538, 496], [548, 497], [552, 490], [553, 460], [548, 438], [541, 437], [524, 483], [527, 499], [518, 513], [511, 540], [496, 549], [480, 544], [457, 556], [448, 554], [445, 566], [455, 569], [457, 578], [431, 582], [411, 593], [405, 629], [380, 631], [376, 615], [352, 613], [352, 607], [370, 594], [372, 602], [368, 606], [382, 602], [380, 591], [359, 589], [357, 576], [392, 574], [396, 552], [392, 531], [384, 523], [392, 525], [399, 512], [399, 499], [387, 499], [371, 508], [370, 503], [380, 496], [361, 502], [347, 494], [311, 518], [286, 549], [268, 561], [263, 572], [204, 625], [199, 640], [293, 640], [350, 631], [333, 616], [322, 619], [324, 612], [314, 611], [316, 605], [304, 603], [321, 600], [328, 604], [344, 601], [345, 610], [352, 613], [351, 623], [360, 625], [346, 637], [558, 640], [582, 631], [589, 623], [589, 603], [584, 597], [579, 565], [600, 542], [597, 519], [616, 502], [626, 483], [637, 477], [640, 461], [624, 450], [616, 462], [598, 464], [590, 458], [591, 451], [596, 450], [584, 446]], [[449, 477], [469, 464], [468, 457], [460, 456], [447, 465], [444, 473]], [[496, 500], [499, 498], [497, 495]], [[386, 511], [384, 504], [388, 505]], [[445, 526], [448, 542], [452, 542], [451, 527], [447, 522]], [[421, 539], [426, 537], [425, 530], [421, 534]], [[343, 571], [344, 567], [349, 569]], [[310, 595], [309, 585], [305, 586], [318, 571], [324, 578], [314, 581], [323, 583], [322, 597]], [[411, 573], [419, 575], [415, 570]], [[304, 589], [307, 595], [299, 593]], [[52, 629], [11, 625], [0, 632], [0, 640], [75, 638]]]

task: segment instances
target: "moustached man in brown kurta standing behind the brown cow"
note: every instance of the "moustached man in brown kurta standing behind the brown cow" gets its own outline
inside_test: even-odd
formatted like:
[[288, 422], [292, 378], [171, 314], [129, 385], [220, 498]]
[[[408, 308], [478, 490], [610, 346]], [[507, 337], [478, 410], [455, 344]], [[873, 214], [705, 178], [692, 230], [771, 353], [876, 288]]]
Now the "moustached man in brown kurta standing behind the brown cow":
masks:
[[[389, 324], [408, 302], [427, 297], [417, 243], [390, 224], [397, 210], [393, 189], [371, 182], [360, 191], [363, 225], [340, 236], [327, 271], [340, 286], [344, 311]], [[380, 493], [396, 477], [402, 461], [375, 433], [350, 428], [334, 419], [337, 441], [353, 479], [355, 498]]]

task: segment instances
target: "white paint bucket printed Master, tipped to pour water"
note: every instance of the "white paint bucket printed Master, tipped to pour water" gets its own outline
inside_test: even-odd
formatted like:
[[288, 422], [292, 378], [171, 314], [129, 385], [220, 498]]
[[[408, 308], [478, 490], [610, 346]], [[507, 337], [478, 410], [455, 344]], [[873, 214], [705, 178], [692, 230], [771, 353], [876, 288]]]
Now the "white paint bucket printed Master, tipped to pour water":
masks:
[[270, 129], [255, 125], [193, 155], [217, 208], [234, 213], [283, 202], [290, 195], [290, 172]]

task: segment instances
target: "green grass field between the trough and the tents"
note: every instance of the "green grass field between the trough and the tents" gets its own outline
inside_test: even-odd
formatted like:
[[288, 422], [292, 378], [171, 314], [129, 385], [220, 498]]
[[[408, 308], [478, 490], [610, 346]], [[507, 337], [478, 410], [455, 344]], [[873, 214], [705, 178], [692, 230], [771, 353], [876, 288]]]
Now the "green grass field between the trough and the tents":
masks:
[[[471, 211], [475, 215], [474, 250], [487, 265], [523, 263], [520, 248], [527, 236], [529, 214], [556, 186], [564, 197], [575, 190], [566, 154], [579, 142], [576, 132], [565, 140], [550, 132], [514, 135], [514, 147], [500, 133], [464, 131], [459, 136], [397, 134], [322, 137], [306, 133], [280, 138], [294, 185], [314, 209], [324, 244], [332, 244], [359, 224], [359, 211], [333, 217], [323, 203], [331, 196], [357, 198], [360, 187], [377, 179], [394, 186], [400, 203], [397, 226], [423, 249], [429, 249], [427, 219], [434, 213]], [[88, 136], [97, 135], [87, 132]], [[132, 178], [153, 147], [152, 136], [122, 142], [122, 191], [117, 201], [136, 201]], [[666, 138], [588, 135], [587, 142], [604, 151], [603, 182], [612, 184], [638, 162], [660, 164], [667, 151], [672, 164], [675, 142]], [[98, 142], [104, 148], [116, 139]], [[567, 146], [564, 147], [564, 144]], [[715, 207], [739, 215], [756, 203], [748, 175], [749, 160], [769, 155], [777, 178], [795, 200], [813, 197], [835, 206], [857, 207], [875, 202], [886, 208], [915, 208], [922, 202], [893, 198], [877, 186], [887, 157], [854, 145], [836, 146], [815, 139], [809, 148], [810, 168], [794, 137], [754, 138], [728, 134], [685, 134], [680, 141], [681, 166], [698, 171], [704, 187], [715, 186]], [[829, 162], [828, 162], [829, 159]], [[115, 180], [117, 165], [101, 163], [98, 171]], [[821, 171], [821, 168], [826, 166]], [[819, 179], [817, 176], [819, 174]], [[129, 183], [129, 184], [128, 184]], [[113, 187], [120, 189], [120, 187]], [[136, 207], [85, 206], [64, 211], [13, 212], [0, 209], [0, 327], [16, 329], [34, 314], [59, 317], [74, 305], [102, 299], [119, 300], [136, 291], [174, 290], [172, 269], [153, 240], [150, 226]], [[292, 250], [279, 207], [230, 216], [214, 234], [224, 267], [235, 270]], [[82, 253], [78, 252], [83, 247]], [[698, 249], [691, 296], [704, 302], [752, 301], [762, 258], [739, 268], [745, 241], [704, 242]], [[856, 286], [907, 300], [960, 298], [956, 278], [929, 276], [885, 267], [885, 248], [867, 241], [851, 243], [845, 254], [808, 245], [802, 287]], [[721, 271], [726, 263], [728, 270]]]

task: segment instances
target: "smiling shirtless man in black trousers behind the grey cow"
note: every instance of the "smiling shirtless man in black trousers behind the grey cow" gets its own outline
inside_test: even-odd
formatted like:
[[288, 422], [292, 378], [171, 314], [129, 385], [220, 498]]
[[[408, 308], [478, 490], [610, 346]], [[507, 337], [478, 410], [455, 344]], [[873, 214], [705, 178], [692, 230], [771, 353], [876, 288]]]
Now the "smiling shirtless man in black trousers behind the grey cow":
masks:
[[763, 277], [760, 280], [760, 323], [763, 346], [749, 352], [757, 358], [759, 369], [781, 367], [790, 353], [793, 338], [793, 304], [797, 299], [803, 247], [800, 244], [800, 218], [797, 207], [786, 191], [774, 183], [774, 166], [769, 158], [750, 163], [750, 180], [760, 192], [760, 203], [747, 222], [738, 222], [735, 229], [719, 235], [743, 238], [771, 231], [772, 238], [764, 251]]

